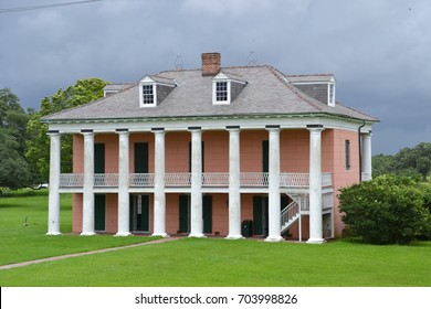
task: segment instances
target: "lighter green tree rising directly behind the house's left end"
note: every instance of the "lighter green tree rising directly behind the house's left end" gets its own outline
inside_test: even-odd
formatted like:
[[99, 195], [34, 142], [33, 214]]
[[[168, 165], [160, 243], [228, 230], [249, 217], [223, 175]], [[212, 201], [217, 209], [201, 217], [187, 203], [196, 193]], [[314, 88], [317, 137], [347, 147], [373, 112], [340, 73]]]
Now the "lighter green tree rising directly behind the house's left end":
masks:
[[[38, 170], [41, 180], [48, 181], [50, 172], [50, 138], [46, 135], [48, 125], [40, 121], [41, 117], [103, 97], [103, 88], [106, 84], [98, 78], [78, 79], [75, 85], [65, 90], [59, 89], [51, 97], [42, 99], [40, 111], [31, 116], [27, 126], [31, 138], [27, 143], [25, 153], [33, 169]], [[61, 152], [62, 172], [72, 172], [72, 136], [62, 137]]]

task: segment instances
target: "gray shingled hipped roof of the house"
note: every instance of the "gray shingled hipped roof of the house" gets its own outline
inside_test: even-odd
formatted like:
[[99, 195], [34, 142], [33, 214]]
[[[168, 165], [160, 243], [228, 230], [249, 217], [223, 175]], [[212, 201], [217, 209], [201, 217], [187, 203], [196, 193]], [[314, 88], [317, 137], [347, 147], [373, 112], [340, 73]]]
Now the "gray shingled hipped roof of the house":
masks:
[[223, 67], [227, 75], [243, 76], [246, 86], [230, 105], [212, 105], [212, 76], [200, 70], [161, 72], [155, 78], [175, 79], [177, 87], [157, 106], [139, 107], [139, 84], [99, 100], [63, 110], [42, 120], [102, 120], [165, 117], [246, 116], [264, 114], [333, 114], [377, 121], [376, 118], [336, 104], [329, 107], [293, 86], [272, 66]]

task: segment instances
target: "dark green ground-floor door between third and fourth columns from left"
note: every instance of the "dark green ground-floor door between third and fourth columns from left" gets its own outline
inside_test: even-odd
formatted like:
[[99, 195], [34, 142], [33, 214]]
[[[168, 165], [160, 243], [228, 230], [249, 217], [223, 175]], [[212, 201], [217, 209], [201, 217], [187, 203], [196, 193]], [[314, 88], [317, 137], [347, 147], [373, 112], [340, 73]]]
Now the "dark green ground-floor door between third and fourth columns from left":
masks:
[[149, 195], [130, 195], [132, 232], [149, 232]]

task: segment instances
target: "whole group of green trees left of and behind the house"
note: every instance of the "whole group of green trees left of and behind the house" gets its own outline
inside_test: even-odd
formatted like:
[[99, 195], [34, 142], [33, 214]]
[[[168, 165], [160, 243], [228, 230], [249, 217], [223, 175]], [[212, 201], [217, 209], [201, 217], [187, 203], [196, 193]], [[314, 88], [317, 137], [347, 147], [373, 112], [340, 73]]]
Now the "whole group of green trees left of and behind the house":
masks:
[[[103, 97], [106, 82], [78, 79], [41, 100], [40, 110], [24, 109], [10, 88], [0, 89], [0, 188], [20, 189], [49, 181], [50, 138], [43, 116]], [[72, 172], [72, 137], [62, 137], [62, 172]]]

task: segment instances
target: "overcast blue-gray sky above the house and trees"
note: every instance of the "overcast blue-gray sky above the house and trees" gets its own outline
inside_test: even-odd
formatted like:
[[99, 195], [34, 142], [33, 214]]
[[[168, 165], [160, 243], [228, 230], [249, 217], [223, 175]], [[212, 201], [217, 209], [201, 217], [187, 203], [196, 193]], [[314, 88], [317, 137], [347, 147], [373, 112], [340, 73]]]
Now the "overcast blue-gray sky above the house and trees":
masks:
[[[0, 0], [0, 88], [23, 107], [80, 78], [267, 64], [285, 74], [334, 73], [336, 99], [380, 119], [376, 153], [431, 142], [429, 0]], [[180, 57], [178, 57], [180, 56]]]

